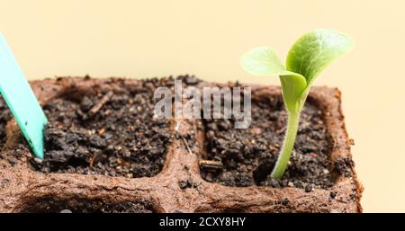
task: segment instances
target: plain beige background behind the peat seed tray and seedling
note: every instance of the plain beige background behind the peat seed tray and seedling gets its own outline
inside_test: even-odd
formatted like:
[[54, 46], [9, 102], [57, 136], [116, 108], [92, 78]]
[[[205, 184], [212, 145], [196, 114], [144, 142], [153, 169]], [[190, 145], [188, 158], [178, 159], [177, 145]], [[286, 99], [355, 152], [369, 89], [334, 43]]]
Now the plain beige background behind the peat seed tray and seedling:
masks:
[[316, 84], [343, 92], [365, 211], [405, 211], [405, 1], [0, 0], [0, 31], [30, 79], [152, 77], [279, 84], [238, 58], [269, 45], [285, 57], [305, 31], [333, 28], [356, 49]]

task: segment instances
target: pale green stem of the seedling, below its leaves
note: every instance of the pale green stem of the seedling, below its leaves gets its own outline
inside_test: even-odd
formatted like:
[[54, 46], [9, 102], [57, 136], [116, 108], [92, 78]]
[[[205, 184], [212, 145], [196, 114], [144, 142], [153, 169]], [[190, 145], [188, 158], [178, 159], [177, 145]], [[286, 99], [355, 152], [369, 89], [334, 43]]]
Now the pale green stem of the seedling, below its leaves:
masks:
[[287, 131], [285, 133], [283, 147], [280, 155], [278, 155], [275, 168], [271, 176], [275, 179], [281, 179], [287, 169], [288, 161], [290, 160], [291, 153], [293, 152], [295, 138], [297, 137], [298, 123], [300, 121], [300, 112], [289, 112]]

